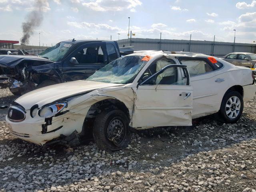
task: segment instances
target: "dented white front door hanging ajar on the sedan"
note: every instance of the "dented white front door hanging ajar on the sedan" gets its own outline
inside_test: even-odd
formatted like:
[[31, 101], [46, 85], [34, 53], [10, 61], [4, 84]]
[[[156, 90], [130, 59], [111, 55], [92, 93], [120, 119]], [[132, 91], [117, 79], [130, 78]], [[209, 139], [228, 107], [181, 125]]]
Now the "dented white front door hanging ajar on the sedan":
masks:
[[186, 66], [162, 58], [152, 63], [139, 80], [133, 127], [190, 126], [192, 86]]

